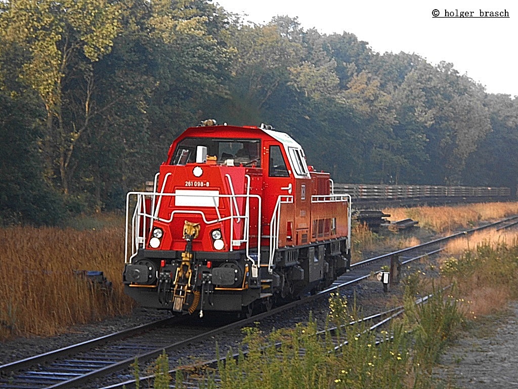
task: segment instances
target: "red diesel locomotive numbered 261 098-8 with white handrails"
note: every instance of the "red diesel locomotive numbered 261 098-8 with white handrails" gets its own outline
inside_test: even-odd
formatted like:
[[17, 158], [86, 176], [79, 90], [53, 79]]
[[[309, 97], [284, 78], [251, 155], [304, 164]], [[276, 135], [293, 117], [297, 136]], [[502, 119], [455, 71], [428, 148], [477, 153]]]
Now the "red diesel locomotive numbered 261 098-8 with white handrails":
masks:
[[350, 196], [289, 135], [207, 120], [172, 143], [152, 192], [127, 195], [125, 292], [200, 317], [268, 309], [349, 268], [350, 226]]

